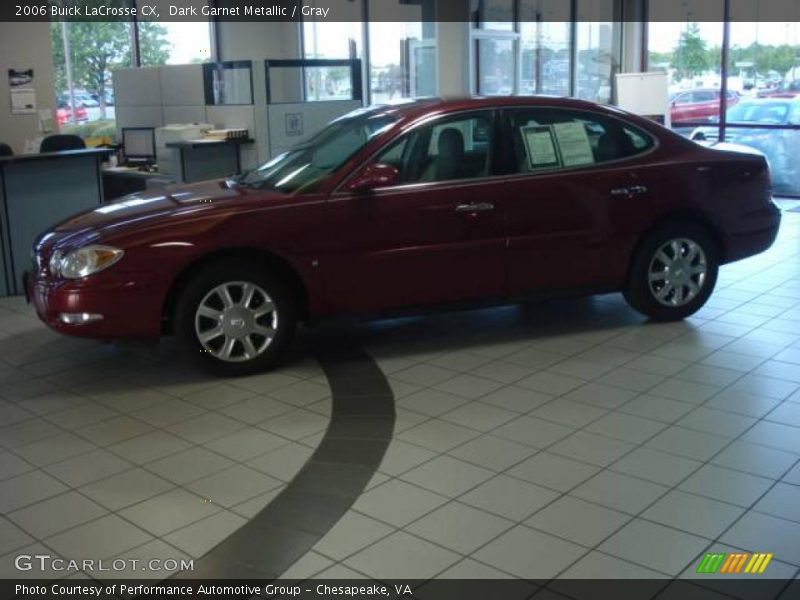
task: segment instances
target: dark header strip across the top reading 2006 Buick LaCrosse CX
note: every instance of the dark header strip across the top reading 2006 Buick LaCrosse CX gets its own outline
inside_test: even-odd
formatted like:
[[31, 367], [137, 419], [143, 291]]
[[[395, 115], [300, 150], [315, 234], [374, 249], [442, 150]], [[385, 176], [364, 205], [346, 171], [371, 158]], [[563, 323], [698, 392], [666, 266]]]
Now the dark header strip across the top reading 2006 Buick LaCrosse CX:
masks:
[[[643, 0], [645, 3], [648, 0]], [[608, 3], [600, 13], [581, 10], [539, 11], [538, 3], [519, 2], [518, 14], [493, 14], [493, 21], [564, 21], [570, 12], [574, 20], [619, 20], [618, 11]], [[797, 0], [649, 0], [649, 20], [671, 22], [717, 22], [723, 20], [726, 5], [732, 21], [800, 21]], [[481, 18], [479, 2], [466, 0], [369, 0], [370, 22], [469, 22]], [[471, 8], [472, 7], [472, 8]], [[608, 12], [608, 14], [604, 14]], [[629, 11], [624, 11], [629, 12]], [[634, 11], [636, 12], [636, 11]], [[361, 22], [365, 0], [3, 0], [0, 21], [272, 21]], [[635, 20], [623, 15], [623, 20]]]

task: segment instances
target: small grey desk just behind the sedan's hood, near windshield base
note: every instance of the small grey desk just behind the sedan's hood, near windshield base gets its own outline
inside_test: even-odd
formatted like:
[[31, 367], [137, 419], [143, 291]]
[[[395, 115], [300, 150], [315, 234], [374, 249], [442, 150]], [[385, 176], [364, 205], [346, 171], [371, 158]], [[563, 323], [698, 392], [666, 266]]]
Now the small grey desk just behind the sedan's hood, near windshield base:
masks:
[[242, 146], [253, 143], [250, 138], [170, 142], [166, 147], [177, 153], [177, 160], [169, 164], [159, 157], [158, 164], [184, 183], [230, 177], [242, 171]]

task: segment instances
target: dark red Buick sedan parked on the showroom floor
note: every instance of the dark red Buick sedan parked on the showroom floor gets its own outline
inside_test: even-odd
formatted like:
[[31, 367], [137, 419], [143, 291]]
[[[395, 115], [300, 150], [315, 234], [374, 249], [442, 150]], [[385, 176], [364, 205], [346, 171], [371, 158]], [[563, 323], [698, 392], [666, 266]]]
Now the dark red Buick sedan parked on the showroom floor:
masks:
[[35, 243], [58, 331], [174, 333], [205, 368], [275, 363], [300, 321], [621, 290], [682, 319], [780, 221], [762, 156], [579, 100], [348, 114], [227, 181], [142, 192]]

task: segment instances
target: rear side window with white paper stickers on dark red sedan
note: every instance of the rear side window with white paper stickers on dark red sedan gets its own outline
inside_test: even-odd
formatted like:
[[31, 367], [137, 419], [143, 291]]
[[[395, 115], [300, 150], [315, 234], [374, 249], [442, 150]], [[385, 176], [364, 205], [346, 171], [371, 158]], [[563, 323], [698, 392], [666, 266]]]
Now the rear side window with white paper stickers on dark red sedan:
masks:
[[509, 124], [518, 173], [590, 167], [642, 154], [655, 144], [636, 127], [583, 111], [517, 109]]

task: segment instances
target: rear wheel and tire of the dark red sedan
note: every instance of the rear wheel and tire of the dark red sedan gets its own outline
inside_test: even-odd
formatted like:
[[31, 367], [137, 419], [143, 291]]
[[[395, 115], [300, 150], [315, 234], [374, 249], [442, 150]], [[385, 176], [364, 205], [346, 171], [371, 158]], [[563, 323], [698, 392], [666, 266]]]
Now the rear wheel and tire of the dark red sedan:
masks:
[[718, 272], [719, 248], [707, 229], [688, 222], [668, 223], [639, 244], [623, 294], [651, 319], [678, 321], [706, 303]]

